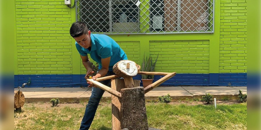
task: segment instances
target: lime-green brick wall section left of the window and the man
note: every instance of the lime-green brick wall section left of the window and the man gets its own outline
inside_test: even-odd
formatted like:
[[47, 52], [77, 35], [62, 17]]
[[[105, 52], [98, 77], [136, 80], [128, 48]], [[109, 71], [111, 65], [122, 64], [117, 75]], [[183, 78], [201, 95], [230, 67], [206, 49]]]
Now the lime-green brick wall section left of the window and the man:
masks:
[[18, 74], [72, 74], [71, 10], [64, 0], [15, 0]]

